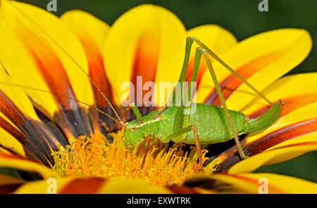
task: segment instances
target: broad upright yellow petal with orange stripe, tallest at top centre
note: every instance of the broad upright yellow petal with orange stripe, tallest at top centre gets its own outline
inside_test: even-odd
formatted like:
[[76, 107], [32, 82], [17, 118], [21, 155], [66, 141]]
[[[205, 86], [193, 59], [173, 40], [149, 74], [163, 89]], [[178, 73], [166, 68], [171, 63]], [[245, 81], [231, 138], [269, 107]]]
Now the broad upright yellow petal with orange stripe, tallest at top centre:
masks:
[[[116, 103], [126, 101], [124, 95], [127, 89], [124, 87], [128, 85], [121, 89], [123, 82], [136, 83], [137, 75], [142, 75], [143, 83], [178, 80], [184, 58], [185, 35], [185, 27], [180, 20], [160, 6], [145, 4], [120, 16], [111, 26], [104, 48], [106, 74]], [[135, 100], [136, 103], [142, 102], [138, 101]]]

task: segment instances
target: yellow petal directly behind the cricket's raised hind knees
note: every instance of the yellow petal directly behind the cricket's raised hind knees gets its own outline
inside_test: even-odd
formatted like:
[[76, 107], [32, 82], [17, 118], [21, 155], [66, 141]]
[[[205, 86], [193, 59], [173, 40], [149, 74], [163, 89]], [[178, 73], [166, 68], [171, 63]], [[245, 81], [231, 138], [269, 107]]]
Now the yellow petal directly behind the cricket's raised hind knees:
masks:
[[[228, 49], [232, 48], [237, 44], [237, 39], [232, 35], [228, 30], [225, 30], [223, 27], [218, 25], [201, 25], [194, 27], [191, 30], [187, 31], [187, 36], [197, 37], [201, 42], [212, 49], [216, 54], [223, 54]], [[194, 68], [194, 55], [196, 52], [196, 45], [192, 47], [192, 51], [189, 58], [189, 66], [186, 75], [186, 80], [190, 80], [190, 75], [192, 75], [192, 70]], [[206, 71], [206, 61], [202, 60], [199, 65], [199, 71], [197, 74], [197, 86], [201, 80], [201, 76], [204, 71]]]

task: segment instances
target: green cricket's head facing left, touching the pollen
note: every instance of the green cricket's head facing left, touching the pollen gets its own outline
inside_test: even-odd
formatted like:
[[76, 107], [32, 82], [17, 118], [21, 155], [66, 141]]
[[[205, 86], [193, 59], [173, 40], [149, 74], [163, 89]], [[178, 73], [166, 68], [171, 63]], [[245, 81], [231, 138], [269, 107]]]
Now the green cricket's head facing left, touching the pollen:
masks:
[[133, 149], [137, 143], [143, 142], [144, 125], [137, 120], [125, 123], [125, 130], [122, 137], [123, 144], [127, 149]]

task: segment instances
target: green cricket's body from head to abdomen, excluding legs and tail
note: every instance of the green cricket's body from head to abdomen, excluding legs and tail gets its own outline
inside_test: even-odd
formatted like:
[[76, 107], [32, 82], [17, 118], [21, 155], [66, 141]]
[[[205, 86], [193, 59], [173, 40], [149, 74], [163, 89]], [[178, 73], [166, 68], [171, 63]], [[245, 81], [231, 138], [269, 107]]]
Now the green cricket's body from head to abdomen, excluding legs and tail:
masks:
[[[132, 143], [135, 140], [142, 142], [142, 137], [153, 137], [162, 142], [169, 142], [169, 135], [178, 132], [182, 126], [182, 116], [179, 116], [180, 107], [168, 107], [159, 117], [158, 111], [152, 111], [142, 118], [143, 123], [140, 125], [137, 121], [131, 121], [128, 126], [137, 126], [134, 132], [125, 133], [125, 142]], [[232, 121], [235, 125], [237, 133], [244, 133], [246, 116], [237, 111], [230, 111]], [[225, 111], [222, 108], [211, 106], [209, 104], [197, 104], [194, 114], [189, 115], [188, 125], [194, 125], [198, 130], [199, 140], [201, 144], [213, 144], [225, 142], [233, 138], [230, 124], [225, 117]], [[186, 126], [184, 126], [186, 127]], [[187, 137], [183, 137], [187, 144], [195, 144], [194, 134], [192, 131], [187, 133]], [[172, 139], [180, 142], [180, 137]]]

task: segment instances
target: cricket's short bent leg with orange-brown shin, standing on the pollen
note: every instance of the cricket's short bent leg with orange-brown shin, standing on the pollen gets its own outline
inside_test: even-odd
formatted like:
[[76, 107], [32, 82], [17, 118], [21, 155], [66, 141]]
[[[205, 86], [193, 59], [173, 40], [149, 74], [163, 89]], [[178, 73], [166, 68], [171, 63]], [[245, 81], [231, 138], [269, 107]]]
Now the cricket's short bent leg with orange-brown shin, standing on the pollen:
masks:
[[201, 156], [201, 144], [199, 142], [197, 128], [194, 125], [189, 125], [186, 128], [183, 128], [183, 129], [179, 130], [178, 132], [169, 135], [168, 137], [166, 137], [166, 140], [172, 140], [173, 138], [178, 137], [180, 135], [183, 135], [185, 133], [188, 133], [191, 130], [194, 133], [194, 139], [196, 142], [197, 154], [198, 154], [198, 159], [199, 159], [199, 168], [200, 168], [201, 172], [204, 173], [204, 163], [203, 163], [202, 156]]

